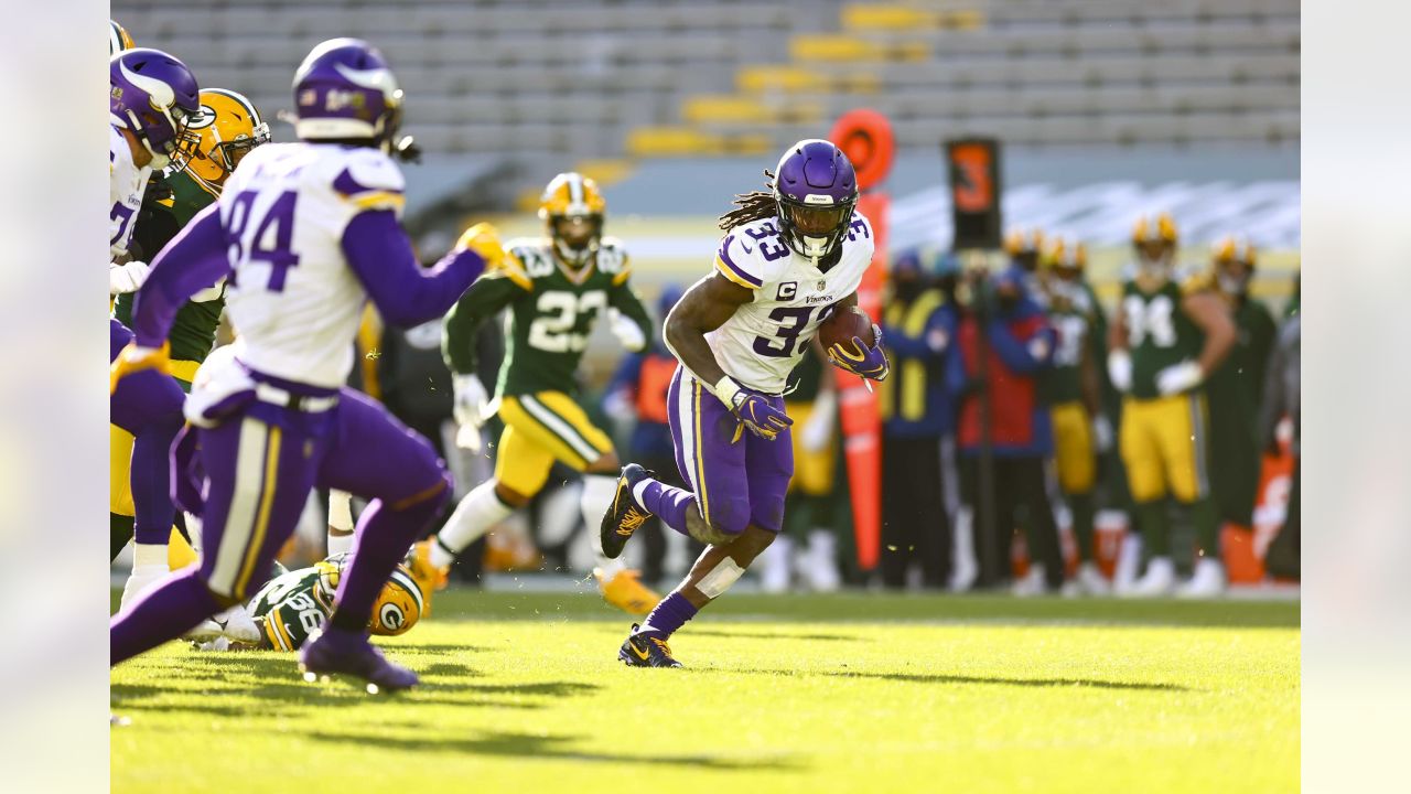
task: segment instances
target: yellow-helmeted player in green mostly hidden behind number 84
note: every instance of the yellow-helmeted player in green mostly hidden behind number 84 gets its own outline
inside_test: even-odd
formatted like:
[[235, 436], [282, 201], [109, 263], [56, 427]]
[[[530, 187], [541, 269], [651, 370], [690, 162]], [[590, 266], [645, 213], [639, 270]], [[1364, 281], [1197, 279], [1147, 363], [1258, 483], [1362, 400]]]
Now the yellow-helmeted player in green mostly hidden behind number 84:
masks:
[[[182, 226], [220, 196], [226, 177], [246, 153], [270, 141], [270, 126], [244, 96], [219, 88], [203, 89], [200, 109], [189, 120], [183, 138], [188, 140], [188, 148], [176, 154], [165, 178], [155, 181], [144, 194], [133, 235], [133, 247], [144, 259], [162, 250]], [[182, 391], [190, 391], [196, 367], [216, 345], [223, 307], [224, 283], [220, 283], [193, 295], [176, 312], [168, 338], [172, 359], [169, 372]], [[117, 295], [113, 315], [119, 322], [131, 325], [131, 292]], [[111, 550], [116, 555], [133, 537], [133, 496], [128, 489], [133, 437], [116, 425], [109, 425], [109, 434]]]

